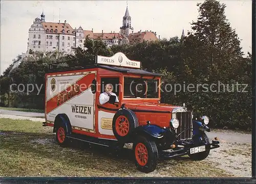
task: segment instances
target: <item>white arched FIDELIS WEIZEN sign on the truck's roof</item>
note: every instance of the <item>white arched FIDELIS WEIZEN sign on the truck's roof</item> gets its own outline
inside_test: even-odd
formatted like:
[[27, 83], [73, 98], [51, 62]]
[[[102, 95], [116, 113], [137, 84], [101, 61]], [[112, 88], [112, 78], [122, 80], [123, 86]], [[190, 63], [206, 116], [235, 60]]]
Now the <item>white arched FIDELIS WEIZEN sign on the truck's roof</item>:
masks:
[[96, 64], [114, 65], [129, 68], [141, 68], [140, 61], [129, 60], [122, 52], [117, 52], [112, 57], [96, 56]]

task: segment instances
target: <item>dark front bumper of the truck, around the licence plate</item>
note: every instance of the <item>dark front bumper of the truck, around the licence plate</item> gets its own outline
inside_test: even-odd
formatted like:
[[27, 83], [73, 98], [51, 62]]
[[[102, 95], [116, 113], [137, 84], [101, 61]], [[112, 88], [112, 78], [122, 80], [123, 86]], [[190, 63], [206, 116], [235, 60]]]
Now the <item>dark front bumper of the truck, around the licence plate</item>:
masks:
[[[212, 141], [210, 144], [200, 144], [200, 145], [194, 145], [194, 144], [178, 144], [177, 148], [173, 149], [172, 151], [161, 151], [159, 154], [159, 157], [162, 159], [171, 159], [176, 156], [182, 156], [187, 155], [190, 153], [190, 148], [199, 147], [199, 146], [205, 146], [206, 149], [215, 149], [220, 147], [219, 141]], [[182, 146], [182, 147], [179, 147]]]

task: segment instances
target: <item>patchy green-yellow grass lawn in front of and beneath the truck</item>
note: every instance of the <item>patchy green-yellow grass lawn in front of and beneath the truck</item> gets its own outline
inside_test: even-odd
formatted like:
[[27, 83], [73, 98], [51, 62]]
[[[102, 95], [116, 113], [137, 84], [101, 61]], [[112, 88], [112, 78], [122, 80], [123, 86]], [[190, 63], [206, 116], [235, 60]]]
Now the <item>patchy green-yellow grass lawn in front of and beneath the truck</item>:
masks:
[[232, 176], [207, 161], [183, 156], [160, 160], [154, 172], [138, 171], [132, 149], [109, 148], [79, 141], [68, 147], [55, 142], [52, 127], [28, 120], [0, 119], [1, 176], [134, 176], [226, 177]]

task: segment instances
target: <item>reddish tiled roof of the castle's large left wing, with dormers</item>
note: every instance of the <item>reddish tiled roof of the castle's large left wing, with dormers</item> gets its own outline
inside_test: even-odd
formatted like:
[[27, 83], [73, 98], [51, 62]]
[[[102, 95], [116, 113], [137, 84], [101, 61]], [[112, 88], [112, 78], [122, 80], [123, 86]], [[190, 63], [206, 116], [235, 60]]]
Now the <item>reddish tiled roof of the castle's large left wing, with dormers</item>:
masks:
[[[44, 27], [45, 31], [48, 29], [49, 33], [53, 30], [52, 33], [62, 33], [64, 30], [64, 34], [74, 35], [73, 31], [75, 31], [69, 23], [55, 23], [55, 22], [41, 22], [42, 26]], [[69, 31], [69, 33], [68, 33]]]

